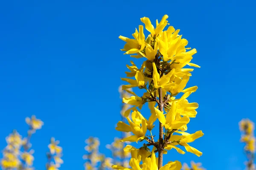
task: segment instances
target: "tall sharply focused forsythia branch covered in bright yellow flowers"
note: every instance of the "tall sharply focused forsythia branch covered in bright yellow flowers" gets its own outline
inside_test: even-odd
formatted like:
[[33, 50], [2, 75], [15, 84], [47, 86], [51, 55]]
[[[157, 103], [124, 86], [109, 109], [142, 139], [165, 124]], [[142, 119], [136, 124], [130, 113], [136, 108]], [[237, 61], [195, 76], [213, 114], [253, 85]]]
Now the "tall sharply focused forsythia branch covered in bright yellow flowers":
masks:
[[[149, 18], [141, 18], [140, 20], [150, 33], [147, 37], [145, 37], [142, 25], [139, 26], [139, 31], [136, 29], [132, 34], [134, 39], [119, 36], [126, 42], [122, 49], [125, 54], [145, 59], [139, 68], [133, 61], [131, 61], [131, 65], [127, 65], [129, 72], [125, 72], [127, 78], [122, 78], [122, 80], [128, 82], [128, 85], [122, 85], [122, 90], [132, 96], [123, 97], [123, 102], [133, 107], [124, 112], [128, 123], [119, 121], [116, 127], [116, 130], [133, 133], [133, 135], [122, 139], [121, 142], [148, 142], [138, 150], [133, 149], [133, 152], [136, 150], [138, 153], [135, 154], [136, 156], [131, 153], [130, 166], [134, 170], [141, 168], [153, 170], [157, 167], [158, 169], [180, 170], [181, 166], [178, 161], [162, 165], [163, 153], [167, 153], [168, 150], [175, 149], [178, 153], [185, 153], [177, 147], [178, 145], [185, 147], [188, 152], [197, 156], [202, 155], [189, 143], [203, 136], [204, 133], [201, 130], [193, 134], [185, 132], [190, 118], [195, 118], [197, 114], [195, 110], [198, 108], [198, 103], [189, 103], [187, 98], [198, 87], [185, 88], [192, 76], [193, 68], [184, 67], [189, 65], [199, 68], [198, 65], [191, 63], [192, 55], [197, 51], [195, 48], [192, 50], [186, 48], [188, 41], [178, 34], [180, 30], [169, 26], [164, 31], [165, 27], [169, 25], [167, 18], [168, 16], [164, 15], [160, 22], [156, 21], [156, 27], [151, 24]], [[143, 96], [138, 96], [130, 88], [144, 89], [145, 93]], [[139, 111], [146, 102], [151, 111], [151, 116], [148, 119]], [[157, 119], [160, 122], [159, 139], [155, 141], [152, 129]], [[150, 132], [150, 135], [147, 135], [147, 131]], [[149, 151], [149, 146], [154, 146], [151, 151]], [[158, 159], [154, 157], [155, 152], [158, 152]], [[145, 153], [145, 155], [140, 155], [140, 153]], [[141, 161], [142, 164], [140, 164]], [[125, 167], [117, 165], [113, 165], [113, 168], [125, 169]]]

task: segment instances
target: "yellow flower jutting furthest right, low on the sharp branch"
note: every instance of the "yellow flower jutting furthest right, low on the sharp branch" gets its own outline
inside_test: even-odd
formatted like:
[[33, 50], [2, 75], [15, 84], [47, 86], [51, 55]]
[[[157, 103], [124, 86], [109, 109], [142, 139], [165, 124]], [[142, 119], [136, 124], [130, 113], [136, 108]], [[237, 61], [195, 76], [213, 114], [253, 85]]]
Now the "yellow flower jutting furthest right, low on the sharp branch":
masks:
[[180, 144], [181, 146], [184, 146], [186, 151], [190, 153], [194, 153], [196, 156], [201, 156], [202, 152], [199, 150], [195, 149], [194, 147], [189, 146], [190, 142], [194, 142], [195, 139], [198, 139], [202, 136], [204, 136], [204, 133], [202, 133], [202, 130], [199, 130], [193, 134], [189, 134], [186, 132], [180, 132], [180, 131], [175, 131], [176, 133], [182, 134], [182, 136], [178, 135], [172, 135], [169, 141], [173, 141], [172, 144], [167, 144], [165, 147], [166, 150], [171, 150], [172, 148], [176, 149], [178, 153], [184, 154], [185, 152], [181, 150], [180, 148], [176, 147], [175, 145]]

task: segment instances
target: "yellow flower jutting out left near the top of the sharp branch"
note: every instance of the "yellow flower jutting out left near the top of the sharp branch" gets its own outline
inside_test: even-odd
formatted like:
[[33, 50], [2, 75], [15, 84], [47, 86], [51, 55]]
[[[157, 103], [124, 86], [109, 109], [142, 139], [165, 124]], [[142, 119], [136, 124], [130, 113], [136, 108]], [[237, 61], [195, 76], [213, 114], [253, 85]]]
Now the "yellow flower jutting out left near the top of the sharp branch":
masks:
[[125, 54], [136, 54], [145, 48], [145, 35], [143, 33], [143, 26], [139, 26], [139, 32], [137, 29], [133, 34], [135, 39], [119, 36], [119, 38], [126, 42], [122, 51], [126, 51]]

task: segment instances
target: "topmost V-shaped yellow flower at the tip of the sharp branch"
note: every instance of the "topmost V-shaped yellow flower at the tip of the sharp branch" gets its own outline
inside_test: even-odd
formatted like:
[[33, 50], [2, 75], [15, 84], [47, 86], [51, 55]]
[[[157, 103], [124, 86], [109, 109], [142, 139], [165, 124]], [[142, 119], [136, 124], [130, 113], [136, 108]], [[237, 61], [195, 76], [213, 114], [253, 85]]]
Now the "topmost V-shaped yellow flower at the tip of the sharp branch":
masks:
[[149, 20], [148, 17], [140, 18], [140, 20], [145, 24], [145, 28], [151, 33], [151, 36], [154, 37], [158, 36], [158, 34], [162, 32], [163, 29], [166, 27], [166, 25], [168, 24], [167, 18], [168, 15], [164, 15], [159, 24], [158, 21], [156, 21], [156, 28], [154, 28], [154, 26], [151, 24], [151, 21]]

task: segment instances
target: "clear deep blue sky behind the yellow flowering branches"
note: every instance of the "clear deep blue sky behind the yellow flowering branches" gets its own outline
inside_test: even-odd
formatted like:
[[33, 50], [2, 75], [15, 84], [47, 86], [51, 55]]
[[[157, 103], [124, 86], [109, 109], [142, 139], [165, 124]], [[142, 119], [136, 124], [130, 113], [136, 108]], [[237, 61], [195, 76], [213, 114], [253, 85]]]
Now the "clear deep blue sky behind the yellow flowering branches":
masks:
[[64, 148], [61, 170], [82, 170], [84, 139], [97, 136], [108, 156], [119, 132], [117, 88], [131, 58], [122, 55], [121, 34], [131, 37], [140, 17], [160, 19], [180, 29], [197, 48], [189, 86], [198, 91], [198, 115], [188, 132], [205, 135], [191, 145], [203, 152], [164, 159], [203, 163], [208, 170], [243, 170], [238, 122], [250, 118], [256, 91], [253, 48], [256, 46], [253, 0], [90, 1], [36, 0], [0, 3], [0, 149], [17, 129], [25, 135], [25, 117], [44, 121], [32, 137], [34, 165], [44, 169], [51, 136]]

